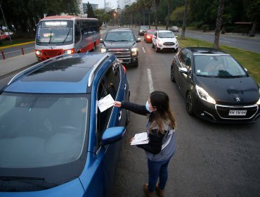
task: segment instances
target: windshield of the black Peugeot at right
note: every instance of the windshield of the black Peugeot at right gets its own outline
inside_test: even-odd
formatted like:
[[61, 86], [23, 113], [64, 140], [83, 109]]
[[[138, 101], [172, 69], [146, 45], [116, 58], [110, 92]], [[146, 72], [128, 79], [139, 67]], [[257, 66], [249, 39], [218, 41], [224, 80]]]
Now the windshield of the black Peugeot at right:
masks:
[[235, 61], [232, 56], [229, 55], [196, 55], [195, 61], [195, 73], [198, 76], [209, 77], [246, 77], [247, 73]]

